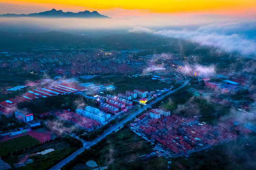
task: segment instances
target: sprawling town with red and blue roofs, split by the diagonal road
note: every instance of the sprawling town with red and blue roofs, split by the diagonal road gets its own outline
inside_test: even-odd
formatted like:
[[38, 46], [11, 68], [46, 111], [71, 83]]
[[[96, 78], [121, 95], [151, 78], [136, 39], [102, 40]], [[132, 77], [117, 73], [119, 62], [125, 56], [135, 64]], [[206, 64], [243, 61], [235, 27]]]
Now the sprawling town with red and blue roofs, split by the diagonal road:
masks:
[[[124, 130], [152, 148], [133, 161], [166, 157], [168, 166], [174, 158], [256, 132], [255, 73], [216, 72], [210, 63], [188, 64], [194, 56], [140, 56], [141, 51], [51, 52], [44, 58], [2, 52], [8, 57], [0, 61], [1, 74], [8, 74], [0, 92], [5, 169], [33, 169], [37, 161], [31, 162], [31, 154], [38, 152], [56, 160], [43, 169], [57, 170]], [[25, 75], [32, 79], [23, 80]], [[226, 115], [232, 109], [238, 117]], [[27, 144], [18, 144], [21, 138]]]

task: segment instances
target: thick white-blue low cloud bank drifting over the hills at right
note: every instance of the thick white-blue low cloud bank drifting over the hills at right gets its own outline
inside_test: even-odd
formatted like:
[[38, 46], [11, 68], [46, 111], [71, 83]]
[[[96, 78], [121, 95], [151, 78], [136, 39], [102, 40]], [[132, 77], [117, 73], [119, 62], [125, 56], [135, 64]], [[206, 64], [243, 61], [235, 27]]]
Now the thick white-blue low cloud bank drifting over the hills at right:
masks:
[[214, 30], [216, 25], [201, 26], [196, 30], [153, 30], [145, 27], [136, 27], [129, 32], [134, 33], [148, 33], [155, 34], [164, 37], [179, 38], [184, 40], [190, 40], [191, 42], [199, 43], [200, 45], [207, 45], [218, 48], [226, 52], [238, 52], [242, 55], [256, 54], [256, 41], [248, 39], [244, 34], [231, 32], [231, 26], [229, 26], [230, 32], [220, 30], [220, 26], [217, 30]]

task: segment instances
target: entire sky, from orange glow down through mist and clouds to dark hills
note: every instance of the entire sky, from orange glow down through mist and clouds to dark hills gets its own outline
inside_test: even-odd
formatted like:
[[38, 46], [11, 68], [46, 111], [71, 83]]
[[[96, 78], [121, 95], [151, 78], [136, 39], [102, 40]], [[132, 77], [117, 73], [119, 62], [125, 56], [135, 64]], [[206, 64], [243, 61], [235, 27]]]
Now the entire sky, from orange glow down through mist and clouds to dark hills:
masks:
[[112, 19], [2, 17], [0, 31], [63, 31], [90, 37], [146, 33], [256, 55], [256, 0], [0, 0], [0, 14], [52, 8], [96, 10]]

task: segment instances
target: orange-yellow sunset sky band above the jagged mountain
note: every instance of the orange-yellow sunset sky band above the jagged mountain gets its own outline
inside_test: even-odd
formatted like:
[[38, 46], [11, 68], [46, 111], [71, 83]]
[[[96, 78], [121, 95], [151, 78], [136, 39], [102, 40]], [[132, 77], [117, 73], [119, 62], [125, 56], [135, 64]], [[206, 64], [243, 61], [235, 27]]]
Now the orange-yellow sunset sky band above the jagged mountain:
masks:
[[[256, 13], [256, 0], [0, 0], [0, 13], [30, 13], [43, 9], [64, 9], [81, 11], [82, 9], [106, 12], [117, 9], [137, 10], [139, 13], [174, 14], [207, 13], [241, 15]], [[36, 7], [36, 8], [35, 8]], [[34, 9], [34, 10], [33, 10]], [[36, 10], [37, 9], [37, 10]], [[39, 10], [41, 9], [41, 10]], [[38, 11], [39, 10], [39, 11]], [[120, 15], [123, 12], [119, 13]], [[133, 16], [136, 13], [132, 14]]]

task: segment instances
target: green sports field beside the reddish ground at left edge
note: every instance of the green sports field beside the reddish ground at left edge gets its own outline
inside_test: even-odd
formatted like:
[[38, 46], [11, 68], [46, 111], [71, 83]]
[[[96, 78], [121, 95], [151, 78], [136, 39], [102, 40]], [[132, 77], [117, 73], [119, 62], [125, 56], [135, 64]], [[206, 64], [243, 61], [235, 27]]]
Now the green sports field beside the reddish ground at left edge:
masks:
[[34, 144], [39, 144], [40, 142], [29, 136], [20, 136], [8, 141], [4, 141], [0, 143], [0, 155], [5, 155], [7, 153], [12, 153], [14, 151], [18, 151], [27, 147], [30, 147]]

